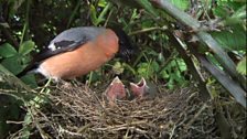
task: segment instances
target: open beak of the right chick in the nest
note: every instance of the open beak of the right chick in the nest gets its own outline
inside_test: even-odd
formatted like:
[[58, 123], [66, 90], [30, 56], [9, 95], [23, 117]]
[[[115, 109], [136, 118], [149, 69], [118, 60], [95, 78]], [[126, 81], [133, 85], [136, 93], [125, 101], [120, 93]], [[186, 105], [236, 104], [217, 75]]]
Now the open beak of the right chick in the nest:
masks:
[[130, 83], [130, 90], [132, 92], [135, 97], [142, 97], [144, 96], [149, 89], [146, 79], [142, 77], [141, 81], [137, 84]]

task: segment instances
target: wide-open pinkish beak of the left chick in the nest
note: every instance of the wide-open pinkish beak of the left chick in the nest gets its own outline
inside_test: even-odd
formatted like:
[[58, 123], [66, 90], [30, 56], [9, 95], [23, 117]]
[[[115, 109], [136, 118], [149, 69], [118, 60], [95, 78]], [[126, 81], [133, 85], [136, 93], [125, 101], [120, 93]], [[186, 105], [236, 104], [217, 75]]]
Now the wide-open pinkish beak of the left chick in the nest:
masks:
[[119, 77], [115, 77], [106, 89], [106, 96], [109, 101], [115, 101], [116, 99], [122, 99], [126, 97], [126, 88]]

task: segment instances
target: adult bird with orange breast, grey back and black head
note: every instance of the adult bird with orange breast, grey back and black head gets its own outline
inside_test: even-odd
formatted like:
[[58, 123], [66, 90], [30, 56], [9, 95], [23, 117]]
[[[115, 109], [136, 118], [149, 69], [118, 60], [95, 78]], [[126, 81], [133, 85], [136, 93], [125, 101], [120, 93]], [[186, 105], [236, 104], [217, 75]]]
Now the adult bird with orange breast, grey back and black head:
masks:
[[119, 28], [79, 26], [55, 36], [18, 77], [40, 73], [46, 78], [73, 79], [97, 70], [115, 55], [130, 60], [133, 47]]

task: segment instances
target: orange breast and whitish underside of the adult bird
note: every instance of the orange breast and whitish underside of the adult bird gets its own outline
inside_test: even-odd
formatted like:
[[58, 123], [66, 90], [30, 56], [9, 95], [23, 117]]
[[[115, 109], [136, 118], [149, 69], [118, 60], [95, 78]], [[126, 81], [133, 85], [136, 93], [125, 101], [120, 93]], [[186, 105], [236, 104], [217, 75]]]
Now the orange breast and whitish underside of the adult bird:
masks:
[[55, 79], [71, 79], [87, 74], [109, 61], [118, 51], [118, 38], [111, 30], [75, 51], [52, 56], [41, 63], [41, 73]]

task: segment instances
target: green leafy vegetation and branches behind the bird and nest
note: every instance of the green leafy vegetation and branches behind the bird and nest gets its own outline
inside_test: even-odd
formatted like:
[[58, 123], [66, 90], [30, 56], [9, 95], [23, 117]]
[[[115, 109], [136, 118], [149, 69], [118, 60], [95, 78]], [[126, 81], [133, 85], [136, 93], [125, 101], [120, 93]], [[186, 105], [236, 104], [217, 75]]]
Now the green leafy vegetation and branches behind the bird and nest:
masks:
[[[136, 56], [110, 61], [84, 83], [100, 87], [116, 75], [124, 82], [144, 77], [168, 89], [196, 86], [221, 108], [246, 108], [246, 0], [0, 0], [0, 138], [17, 130], [7, 120], [31, 122], [20, 107], [39, 96], [26, 85], [36, 88], [41, 78], [26, 75], [23, 84], [13, 75], [60, 32], [110, 24], [129, 34]], [[19, 94], [23, 88], [26, 94]]]

